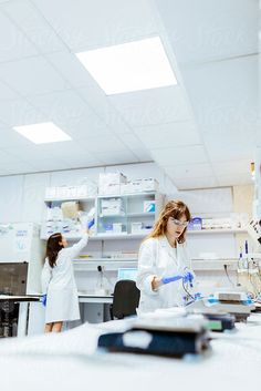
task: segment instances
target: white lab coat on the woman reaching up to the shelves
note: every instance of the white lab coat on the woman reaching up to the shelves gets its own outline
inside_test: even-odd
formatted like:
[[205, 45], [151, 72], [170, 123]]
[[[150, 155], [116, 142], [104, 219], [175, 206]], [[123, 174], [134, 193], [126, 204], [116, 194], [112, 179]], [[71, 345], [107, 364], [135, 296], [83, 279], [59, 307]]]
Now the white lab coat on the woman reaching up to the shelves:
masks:
[[42, 292], [48, 295], [45, 323], [80, 319], [77, 288], [72, 259], [86, 246], [88, 235], [72, 247], [60, 250], [56, 265], [51, 268], [49, 260], [42, 270]]

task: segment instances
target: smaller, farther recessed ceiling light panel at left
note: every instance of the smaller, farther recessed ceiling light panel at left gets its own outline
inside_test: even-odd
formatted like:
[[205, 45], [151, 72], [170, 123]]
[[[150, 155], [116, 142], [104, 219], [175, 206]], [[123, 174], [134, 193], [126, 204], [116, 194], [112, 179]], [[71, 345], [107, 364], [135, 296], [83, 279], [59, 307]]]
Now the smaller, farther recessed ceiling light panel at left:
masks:
[[72, 140], [52, 122], [43, 122], [41, 124], [25, 126], [13, 126], [13, 128], [34, 144], [56, 143], [60, 141]]

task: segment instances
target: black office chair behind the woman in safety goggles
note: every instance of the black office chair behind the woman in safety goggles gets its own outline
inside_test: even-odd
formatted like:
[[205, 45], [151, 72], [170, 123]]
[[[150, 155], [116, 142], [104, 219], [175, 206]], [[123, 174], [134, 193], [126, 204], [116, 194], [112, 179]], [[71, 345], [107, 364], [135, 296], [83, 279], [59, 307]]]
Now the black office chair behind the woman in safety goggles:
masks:
[[129, 279], [119, 280], [114, 287], [113, 303], [109, 308], [112, 319], [123, 319], [136, 315], [140, 291], [136, 282]]

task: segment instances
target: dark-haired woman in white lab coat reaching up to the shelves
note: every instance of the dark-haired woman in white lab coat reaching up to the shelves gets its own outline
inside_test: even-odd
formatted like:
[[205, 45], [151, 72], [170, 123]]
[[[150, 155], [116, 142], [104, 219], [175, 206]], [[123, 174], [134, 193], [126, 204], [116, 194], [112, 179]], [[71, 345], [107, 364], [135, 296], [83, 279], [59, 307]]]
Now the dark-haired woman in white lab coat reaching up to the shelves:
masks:
[[87, 231], [72, 247], [67, 247], [66, 239], [59, 233], [48, 239], [42, 270], [42, 292], [46, 295], [44, 332], [60, 332], [63, 321], [80, 319], [72, 259], [86, 246], [87, 240]]

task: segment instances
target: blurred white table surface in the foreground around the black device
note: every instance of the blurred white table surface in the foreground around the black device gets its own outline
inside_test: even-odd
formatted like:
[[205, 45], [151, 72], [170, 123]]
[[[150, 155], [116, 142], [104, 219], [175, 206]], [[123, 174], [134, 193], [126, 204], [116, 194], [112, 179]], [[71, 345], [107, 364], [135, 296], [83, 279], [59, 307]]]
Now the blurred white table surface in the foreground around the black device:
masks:
[[167, 359], [96, 352], [98, 336], [126, 321], [85, 323], [61, 335], [0, 341], [1, 389], [63, 391], [259, 390], [261, 316], [215, 333], [205, 357]]

